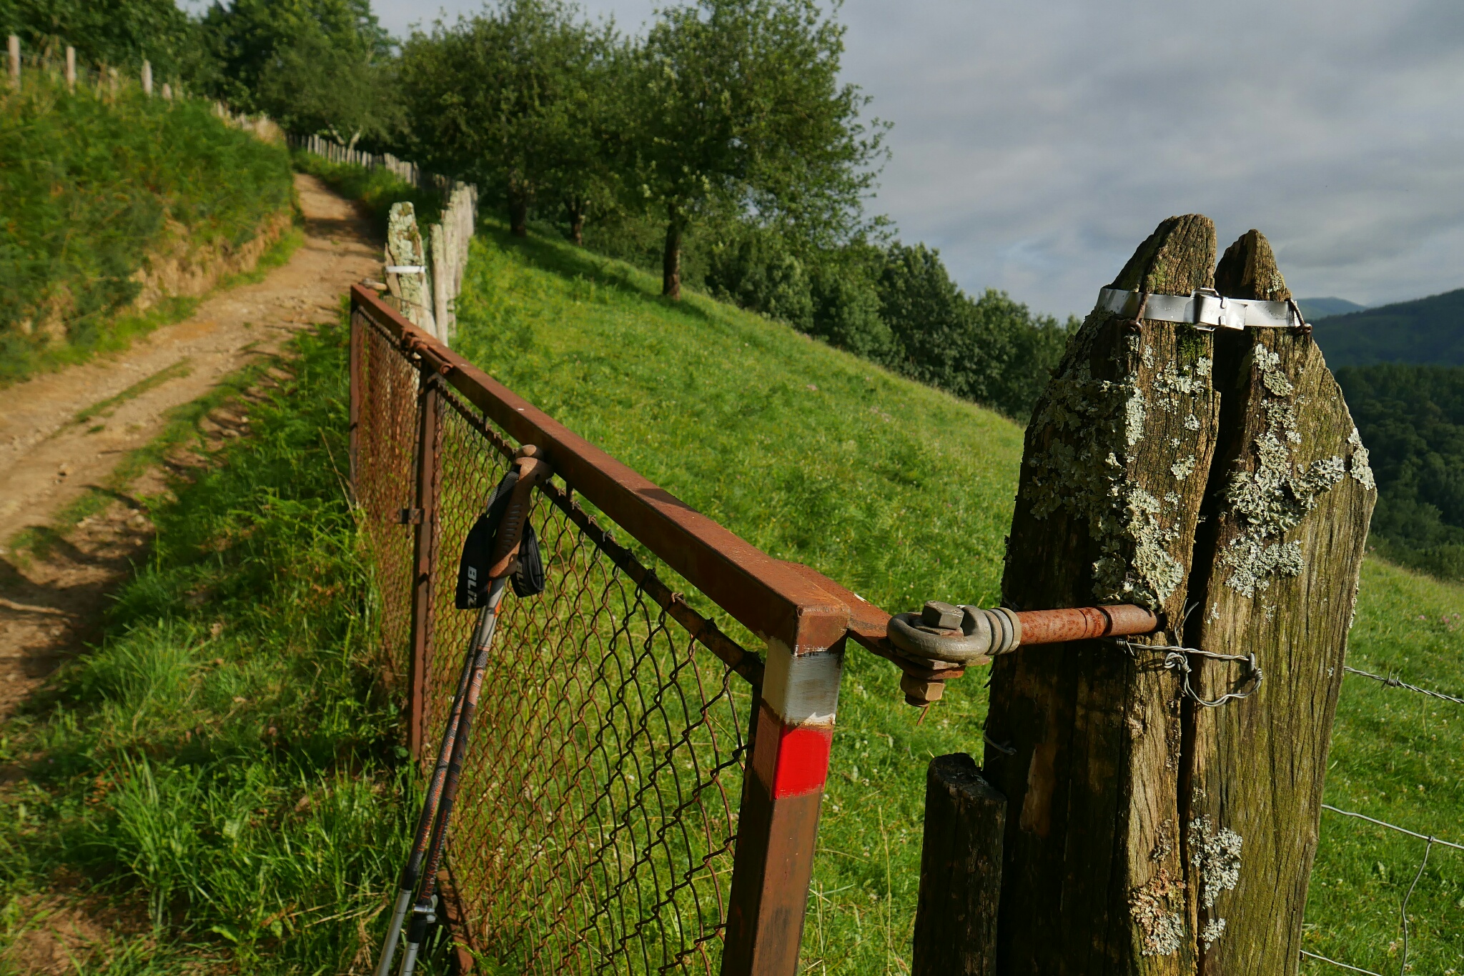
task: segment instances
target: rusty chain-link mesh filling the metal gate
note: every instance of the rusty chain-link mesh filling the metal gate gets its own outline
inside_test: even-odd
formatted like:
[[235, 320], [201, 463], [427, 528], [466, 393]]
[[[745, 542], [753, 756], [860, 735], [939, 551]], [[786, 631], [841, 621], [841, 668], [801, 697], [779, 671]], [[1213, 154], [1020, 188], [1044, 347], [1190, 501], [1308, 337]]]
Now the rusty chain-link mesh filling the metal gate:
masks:
[[[389, 515], [411, 505], [420, 401], [406, 354], [362, 325], [357, 493], [400, 658], [413, 534]], [[445, 385], [435, 402], [429, 743], [473, 625], [452, 606], [461, 541], [512, 457]], [[524, 973], [714, 973], [760, 661], [569, 490], [542, 490], [533, 524], [548, 588], [507, 596], [493, 639], [448, 847], [457, 936]]]

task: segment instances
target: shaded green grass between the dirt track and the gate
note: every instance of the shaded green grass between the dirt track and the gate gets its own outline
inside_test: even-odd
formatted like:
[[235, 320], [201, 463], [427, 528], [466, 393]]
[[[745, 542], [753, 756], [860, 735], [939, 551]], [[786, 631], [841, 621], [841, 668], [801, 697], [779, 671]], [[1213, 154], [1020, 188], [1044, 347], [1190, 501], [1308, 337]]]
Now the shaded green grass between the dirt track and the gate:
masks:
[[252, 435], [149, 500], [155, 549], [101, 645], [0, 730], [23, 773], [0, 787], [0, 972], [67, 876], [67, 900], [139, 919], [78, 972], [326, 973], [373, 951], [411, 800], [340, 468], [343, 329], [296, 342]]

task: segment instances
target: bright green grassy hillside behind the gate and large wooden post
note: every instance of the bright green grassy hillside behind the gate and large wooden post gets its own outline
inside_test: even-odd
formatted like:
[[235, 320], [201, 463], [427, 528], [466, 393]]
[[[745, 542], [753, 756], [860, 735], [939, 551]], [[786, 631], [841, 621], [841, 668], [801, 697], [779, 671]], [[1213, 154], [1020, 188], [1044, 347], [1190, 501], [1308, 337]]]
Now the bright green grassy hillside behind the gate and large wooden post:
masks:
[[[618, 262], [493, 228], [474, 246], [457, 345], [742, 537], [886, 609], [997, 598], [1022, 449], [1015, 424], [729, 306], [666, 303], [656, 284]], [[1461, 588], [1369, 563], [1354, 663], [1464, 689], [1460, 619], [1441, 622], [1461, 597]], [[925, 762], [979, 755], [982, 677], [959, 682], [916, 726], [893, 667], [851, 651], [805, 972], [905, 970]], [[1329, 799], [1461, 840], [1464, 710], [1422, 701], [1347, 680]], [[1386, 966], [1422, 844], [1353, 821], [1326, 819], [1322, 831], [1309, 945]], [[1461, 879], [1464, 860], [1435, 852], [1410, 903], [1419, 972], [1464, 972]]]

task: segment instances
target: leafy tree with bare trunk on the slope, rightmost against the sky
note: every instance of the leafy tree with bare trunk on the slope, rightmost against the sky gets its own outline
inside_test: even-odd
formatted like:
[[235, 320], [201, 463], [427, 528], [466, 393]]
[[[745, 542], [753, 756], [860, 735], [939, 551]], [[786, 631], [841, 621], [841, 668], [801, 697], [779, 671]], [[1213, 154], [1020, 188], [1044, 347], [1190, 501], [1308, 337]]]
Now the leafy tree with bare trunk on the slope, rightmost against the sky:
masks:
[[662, 293], [712, 214], [829, 243], [862, 219], [883, 126], [839, 83], [843, 28], [815, 0], [694, 0], [662, 10], [640, 57], [628, 135], [643, 206], [666, 221]]

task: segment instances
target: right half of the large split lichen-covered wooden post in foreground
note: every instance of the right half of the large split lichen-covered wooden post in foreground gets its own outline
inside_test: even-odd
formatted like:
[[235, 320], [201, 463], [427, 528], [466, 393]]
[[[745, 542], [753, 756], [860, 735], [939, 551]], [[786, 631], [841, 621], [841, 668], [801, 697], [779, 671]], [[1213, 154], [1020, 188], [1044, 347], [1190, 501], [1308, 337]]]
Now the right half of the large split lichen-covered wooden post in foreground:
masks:
[[[1215, 272], [1221, 294], [1290, 297], [1258, 231]], [[1347, 631], [1376, 500], [1367, 451], [1310, 335], [1220, 337], [1221, 442], [1195, 553], [1189, 645], [1255, 651], [1244, 701], [1187, 705], [1181, 796], [1189, 926], [1200, 972], [1296, 973]], [[1202, 661], [1196, 691], [1244, 664]]]

